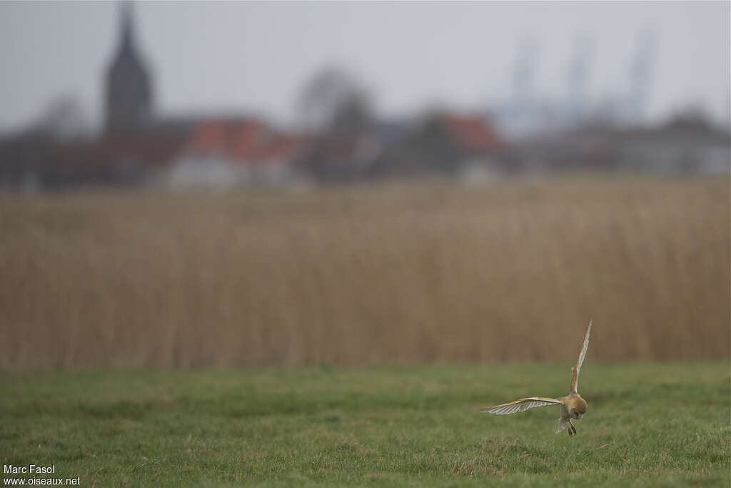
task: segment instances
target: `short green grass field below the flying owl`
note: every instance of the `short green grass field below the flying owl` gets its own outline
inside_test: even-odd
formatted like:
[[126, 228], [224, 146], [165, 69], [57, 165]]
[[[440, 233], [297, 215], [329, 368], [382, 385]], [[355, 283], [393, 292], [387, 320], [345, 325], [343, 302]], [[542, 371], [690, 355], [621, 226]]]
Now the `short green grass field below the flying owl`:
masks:
[[5, 372], [0, 457], [86, 487], [730, 485], [725, 361], [588, 360], [575, 438], [555, 407], [478, 411], [569, 367]]

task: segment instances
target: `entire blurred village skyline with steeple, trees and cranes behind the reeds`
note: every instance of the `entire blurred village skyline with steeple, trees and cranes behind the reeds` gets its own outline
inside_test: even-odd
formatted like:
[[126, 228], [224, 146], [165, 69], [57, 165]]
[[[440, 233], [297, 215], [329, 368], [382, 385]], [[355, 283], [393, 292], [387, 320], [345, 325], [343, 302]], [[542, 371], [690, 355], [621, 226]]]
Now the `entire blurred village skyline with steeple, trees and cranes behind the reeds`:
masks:
[[84, 128], [72, 98], [54, 102], [33, 127], [0, 138], [0, 189], [224, 191], [419, 175], [480, 181], [529, 172], [730, 171], [728, 127], [713, 127], [699, 113], [643, 123], [655, 56], [648, 36], [637, 43], [626, 93], [603, 104], [587, 95], [591, 38], [577, 40], [567, 94], [556, 101], [537, 97], [539, 51], [524, 41], [510, 73], [510, 99], [479, 116], [443, 110], [385, 121], [357, 78], [325, 67], [303, 88], [305, 133], [246, 113], [156, 113], [154, 76], [136, 34], [132, 4], [123, 3], [102, 78], [99, 135]]

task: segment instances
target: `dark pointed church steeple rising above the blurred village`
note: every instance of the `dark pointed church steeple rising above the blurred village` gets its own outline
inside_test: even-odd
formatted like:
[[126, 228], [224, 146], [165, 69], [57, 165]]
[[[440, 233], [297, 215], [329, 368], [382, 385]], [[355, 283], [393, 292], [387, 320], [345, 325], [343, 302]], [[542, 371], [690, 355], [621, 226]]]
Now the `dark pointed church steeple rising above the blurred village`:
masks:
[[135, 43], [132, 3], [119, 4], [119, 43], [107, 70], [105, 132], [143, 132], [152, 119], [152, 83]]

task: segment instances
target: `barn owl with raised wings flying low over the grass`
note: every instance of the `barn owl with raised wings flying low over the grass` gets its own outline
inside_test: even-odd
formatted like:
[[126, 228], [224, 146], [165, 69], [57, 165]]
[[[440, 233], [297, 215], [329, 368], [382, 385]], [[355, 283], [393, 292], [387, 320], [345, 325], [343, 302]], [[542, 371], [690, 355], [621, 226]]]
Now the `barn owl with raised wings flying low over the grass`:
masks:
[[560, 433], [564, 429], [569, 429], [569, 435], [576, 433], [576, 427], [571, 423], [571, 419], [575, 418], [579, 420], [584, 413], [586, 413], [587, 405], [579, 392], [577, 391], [577, 385], [579, 381], [579, 371], [581, 364], [584, 362], [584, 356], [586, 356], [586, 349], [589, 346], [589, 334], [591, 333], [591, 320], [589, 320], [588, 329], [586, 329], [586, 337], [584, 337], [584, 345], [581, 348], [579, 359], [576, 361], [576, 366], [571, 368], [571, 391], [566, 397], [561, 398], [545, 398], [545, 397], [529, 397], [515, 400], [515, 402], [504, 403], [502, 405], [496, 405], [495, 407], [485, 408], [480, 410], [484, 413], [493, 413], [495, 415], [510, 415], [510, 413], [524, 412], [531, 408], [545, 407], [547, 405], [561, 405], [561, 418], [558, 419], [558, 429], [556, 434]]

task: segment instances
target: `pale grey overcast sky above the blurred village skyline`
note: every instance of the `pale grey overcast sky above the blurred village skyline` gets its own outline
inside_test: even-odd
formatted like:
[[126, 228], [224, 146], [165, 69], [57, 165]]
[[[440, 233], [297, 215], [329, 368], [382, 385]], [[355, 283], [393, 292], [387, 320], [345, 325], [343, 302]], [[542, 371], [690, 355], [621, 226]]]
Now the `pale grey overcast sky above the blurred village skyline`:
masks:
[[[643, 31], [656, 56], [648, 116], [702, 104], [729, 116], [730, 2], [138, 1], [137, 40], [156, 111], [295, 118], [300, 90], [338, 64], [385, 116], [425, 104], [485, 107], [510, 93], [521, 39], [539, 45], [536, 91], [558, 99], [575, 40], [595, 58], [589, 92], [621, 94]], [[63, 95], [102, 118], [102, 75], [118, 42], [115, 2], [0, 1], [0, 131], [37, 119]]]

